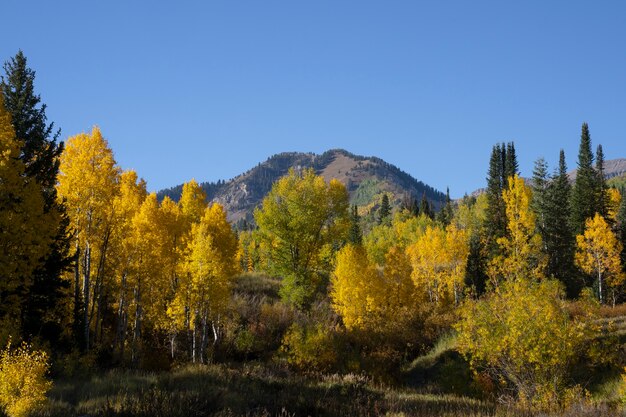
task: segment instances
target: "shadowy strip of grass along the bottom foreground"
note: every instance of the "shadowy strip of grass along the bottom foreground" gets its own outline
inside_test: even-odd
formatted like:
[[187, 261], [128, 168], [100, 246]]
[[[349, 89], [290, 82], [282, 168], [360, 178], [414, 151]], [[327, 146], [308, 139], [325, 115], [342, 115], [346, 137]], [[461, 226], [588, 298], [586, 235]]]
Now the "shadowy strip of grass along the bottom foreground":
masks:
[[[449, 352], [442, 349], [439, 357]], [[420, 359], [415, 367], [429, 363]], [[378, 384], [362, 375], [297, 375], [280, 365], [261, 363], [189, 365], [160, 373], [113, 370], [57, 381], [49, 398], [33, 417], [541, 415], [464, 395]], [[586, 406], [565, 415], [626, 414]]]

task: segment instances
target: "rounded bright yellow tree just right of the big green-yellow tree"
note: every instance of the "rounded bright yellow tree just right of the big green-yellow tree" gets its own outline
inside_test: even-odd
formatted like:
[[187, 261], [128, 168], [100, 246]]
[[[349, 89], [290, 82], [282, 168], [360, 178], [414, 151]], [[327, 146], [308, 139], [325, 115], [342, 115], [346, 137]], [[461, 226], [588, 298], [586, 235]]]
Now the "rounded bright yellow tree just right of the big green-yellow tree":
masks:
[[371, 326], [380, 315], [381, 299], [386, 295], [380, 273], [363, 247], [347, 245], [337, 253], [330, 297], [347, 329]]

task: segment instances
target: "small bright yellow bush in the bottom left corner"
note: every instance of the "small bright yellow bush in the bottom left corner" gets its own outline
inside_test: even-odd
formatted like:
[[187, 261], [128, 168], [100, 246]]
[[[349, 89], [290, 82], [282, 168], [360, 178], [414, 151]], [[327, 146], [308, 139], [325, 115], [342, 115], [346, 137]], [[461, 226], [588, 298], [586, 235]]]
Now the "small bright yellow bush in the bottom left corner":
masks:
[[9, 342], [0, 353], [0, 406], [9, 417], [26, 416], [45, 401], [48, 368], [48, 355], [25, 343], [11, 351]]

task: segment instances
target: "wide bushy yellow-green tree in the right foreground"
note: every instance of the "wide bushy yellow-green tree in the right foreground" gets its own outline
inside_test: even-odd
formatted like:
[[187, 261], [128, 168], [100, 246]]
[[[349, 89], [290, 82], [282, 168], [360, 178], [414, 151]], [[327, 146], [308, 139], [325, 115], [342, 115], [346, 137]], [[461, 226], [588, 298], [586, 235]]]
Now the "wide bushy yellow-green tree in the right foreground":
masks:
[[556, 280], [502, 282], [479, 301], [466, 300], [456, 325], [457, 348], [471, 366], [524, 406], [559, 407], [569, 366], [592, 336], [591, 316], [572, 319]]

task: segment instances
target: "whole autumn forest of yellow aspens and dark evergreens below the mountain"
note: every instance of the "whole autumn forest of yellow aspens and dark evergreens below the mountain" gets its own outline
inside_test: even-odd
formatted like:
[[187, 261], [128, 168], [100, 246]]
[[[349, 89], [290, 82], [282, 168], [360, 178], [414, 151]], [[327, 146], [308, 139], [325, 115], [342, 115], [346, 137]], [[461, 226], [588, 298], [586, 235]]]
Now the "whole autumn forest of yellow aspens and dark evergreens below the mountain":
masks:
[[292, 169], [240, 230], [3, 70], [0, 415], [626, 413], [626, 191], [586, 123], [574, 180], [498, 143], [483, 193], [372, 215]]

